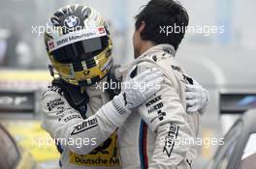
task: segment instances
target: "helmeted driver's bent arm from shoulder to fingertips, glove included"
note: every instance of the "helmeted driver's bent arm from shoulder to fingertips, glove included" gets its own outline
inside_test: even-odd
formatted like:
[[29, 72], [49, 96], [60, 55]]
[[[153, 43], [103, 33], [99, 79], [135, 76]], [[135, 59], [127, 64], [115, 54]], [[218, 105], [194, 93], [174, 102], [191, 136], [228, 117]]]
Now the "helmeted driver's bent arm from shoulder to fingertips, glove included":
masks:
[[[136, 77], [125, 81], [127, 86], [139, 83], [161, 82], [162, 72], [147, 70]], [[50, 87], [43, 95], [42, 107], [44, 110], [43, 127], [54, 139], [73, 143], [77, 139], [93, 139], [90, 145], [65, 144], [72, 152], [86, 155], [109, 138], [117, 127], [121, 127], [130, 115], [131, 109], [141, 105], [160, 88], [150, 88], [141, 91], [138, 88], [124, 88], [112, 101], [103, 105], [93, 116], [83, 120], [80, 113], [73, 109], [59, 92], [59, 88]]]

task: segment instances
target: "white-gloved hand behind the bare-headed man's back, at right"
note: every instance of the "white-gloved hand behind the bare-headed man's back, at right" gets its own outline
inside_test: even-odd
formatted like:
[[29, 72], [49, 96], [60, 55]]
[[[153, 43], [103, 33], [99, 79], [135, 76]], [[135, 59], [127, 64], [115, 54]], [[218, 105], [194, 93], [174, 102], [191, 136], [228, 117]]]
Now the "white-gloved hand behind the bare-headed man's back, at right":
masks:
[[205, 114], [208, 106], [208, 91], [203, 88], [195, 79], [194, 84], [186, 85], [186, 104], [187, 112], [194, 113], [199, 111], [202, 115]]

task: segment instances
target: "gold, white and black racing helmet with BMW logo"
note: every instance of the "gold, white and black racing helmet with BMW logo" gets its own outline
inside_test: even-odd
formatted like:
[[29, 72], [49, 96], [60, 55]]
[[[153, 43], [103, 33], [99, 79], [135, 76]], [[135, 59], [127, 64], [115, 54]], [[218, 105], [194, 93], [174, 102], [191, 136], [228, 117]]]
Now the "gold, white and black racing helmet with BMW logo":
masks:
[[69, 5], [54, 13], [45, 43], [53, 69], [70, 84], [93, 85], [112, 68], [108, 23], [89, 6]]

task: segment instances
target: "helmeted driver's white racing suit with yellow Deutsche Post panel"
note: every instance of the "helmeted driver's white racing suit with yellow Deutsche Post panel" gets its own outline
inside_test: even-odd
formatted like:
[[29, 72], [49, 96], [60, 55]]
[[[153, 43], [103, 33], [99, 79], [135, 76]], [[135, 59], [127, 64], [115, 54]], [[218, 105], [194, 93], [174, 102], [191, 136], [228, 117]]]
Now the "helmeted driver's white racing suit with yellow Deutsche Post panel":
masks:
[[[110, 100], [108, 94], [87, 90], [90, 98], [86, 111], [88, 118], [82, 120], [80, 112], [72, 108], [63, 96], [58, 95], [54, 91], [55, 87], [50, 87], [48, 90], [52, 90], [52, 93], [47, 92], [47, 96], [44, 95], [43, 98], [42, 104], [48, 106], [43, 107], [45, 112], [42, 127], [56, 139], [57, 149], [61, 154], [60, 167], [63, 169], [120, 168], [115, 130], [118, 126], [122, 126], [126, 115], [123, 114], [121, 115], [123, 117], [118, 119], [106, 116], [116, 111], [111, 103], [106, 104]], [[102, 109], [103, 105], [108, 108]], [[109, 110], [108, 113], [105, 112], [106, 110]], [[74, 130], [76, 125], [78, 129]], [[69, 132], [73, 132], [73, 137], [65, 143], [64, 139], [68, 137]], [[103, 141], [105, 142], [102, 143]]]

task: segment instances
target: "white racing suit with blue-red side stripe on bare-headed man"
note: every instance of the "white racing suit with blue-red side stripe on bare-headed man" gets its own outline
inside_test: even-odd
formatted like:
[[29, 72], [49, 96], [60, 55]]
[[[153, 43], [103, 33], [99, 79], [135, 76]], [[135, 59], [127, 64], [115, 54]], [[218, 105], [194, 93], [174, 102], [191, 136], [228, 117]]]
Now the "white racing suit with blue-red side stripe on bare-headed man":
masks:
[[[184, 75], [175, 59], [172, 45], [160, 44], [118, 70], [119, 76], [137, 66], [137, 73], [163, 70], [162, 89], [134, 111], [118, 129], [121, 165], [125, 169], [190, 169], [196, 157], [194, 139], [198, 136], [200, 113], [186, 113]], [[130, 73], [129, 73], [130, 74]], [[136, 73], [132, 73], [136, 74]], [[129, 77], [128, 77], [129, 78]]]

